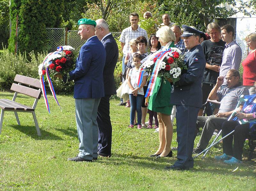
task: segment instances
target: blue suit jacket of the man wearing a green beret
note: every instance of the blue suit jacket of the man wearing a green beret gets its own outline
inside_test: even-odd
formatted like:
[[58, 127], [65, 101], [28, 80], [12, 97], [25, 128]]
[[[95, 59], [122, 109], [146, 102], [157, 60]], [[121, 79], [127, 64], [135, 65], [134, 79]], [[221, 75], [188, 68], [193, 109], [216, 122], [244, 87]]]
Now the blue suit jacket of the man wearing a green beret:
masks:
[[[106, 51], [97, 36], [88, 40], [80, 49], [76, 69], [69, 72], [68, 81], [74, 80], [74, 98], [104, 97], [103, 69]], [[66, 81], [67, 77], [63, 77]]]

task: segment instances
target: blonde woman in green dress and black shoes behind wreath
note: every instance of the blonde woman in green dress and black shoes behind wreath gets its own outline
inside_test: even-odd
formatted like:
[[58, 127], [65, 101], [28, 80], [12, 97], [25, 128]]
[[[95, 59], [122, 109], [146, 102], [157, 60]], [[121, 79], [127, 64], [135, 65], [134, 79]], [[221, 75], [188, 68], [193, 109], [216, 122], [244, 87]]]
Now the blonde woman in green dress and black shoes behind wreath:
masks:
[[[175, 47], [176, 39], [172, 29], [169, 26], [162, 26], [157, 32], [156, 37], [160, 41], [162, 50]], [[148, 109], [157, 112], [159, 122], [159, 148], [150, 157], [172, 157], [172, 121], [171, 112], [172, 105], [170, 104], [172, 86], [164, 77], [157, 77], [156, 84], [152, 96], [150, 96]]]

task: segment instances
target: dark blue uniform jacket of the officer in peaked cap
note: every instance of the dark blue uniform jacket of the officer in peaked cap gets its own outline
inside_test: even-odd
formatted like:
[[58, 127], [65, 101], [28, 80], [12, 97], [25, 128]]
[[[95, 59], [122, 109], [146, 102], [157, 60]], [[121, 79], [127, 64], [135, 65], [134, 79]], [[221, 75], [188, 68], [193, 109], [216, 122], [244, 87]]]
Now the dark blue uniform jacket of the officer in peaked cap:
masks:
[[201, 45], [196, 45], [185, 54], [188, 70], [181, 72], [180, 80], [172, 86], [171, 104], [202, 107], [202, 77], [205, 56]]

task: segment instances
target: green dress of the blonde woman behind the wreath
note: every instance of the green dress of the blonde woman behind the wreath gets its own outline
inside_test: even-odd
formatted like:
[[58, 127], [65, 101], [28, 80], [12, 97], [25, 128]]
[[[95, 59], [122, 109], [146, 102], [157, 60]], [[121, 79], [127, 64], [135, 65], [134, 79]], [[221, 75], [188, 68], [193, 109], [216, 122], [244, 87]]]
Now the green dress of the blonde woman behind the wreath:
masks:
[[[169, 46], [175, 47], [174, 42]], [[166, 115], [171, 115], [172, 104], [171, 100], [172, 86], [164, 77], [156, 77], [156, 84], [152, 92], [152, 96], [148, 101], [148, 109], [154, 112], [159, 112]]]

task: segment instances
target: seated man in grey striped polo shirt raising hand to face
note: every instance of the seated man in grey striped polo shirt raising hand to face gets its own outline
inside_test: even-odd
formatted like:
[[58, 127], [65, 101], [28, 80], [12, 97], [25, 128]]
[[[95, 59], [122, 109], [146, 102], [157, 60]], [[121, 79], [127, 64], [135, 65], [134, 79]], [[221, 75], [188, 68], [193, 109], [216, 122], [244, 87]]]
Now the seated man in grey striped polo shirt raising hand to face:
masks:
[[[224, 78], [227, 79], [228, 86], [218, 90], [222, 85]], [[196, 133], [200, 127], [204, 127], [197, 147], [193, 154], [202, 152], [212, 138], [215, 129], [221, 129], [222, 123], [228, 120], [228, 117], [236, 109], [241, 95], [249, 95], [249, 91], [241, 85], [240, 73], [236, 69], [228, 70], [225, 77], [219, 76], [217, 83], [210, 92], [208, 99], [220, 101], [220, 109], [216, 115], [198, 116], [196, 122]], [[242, 109], [243, 106], [240, 106]], [[195, 133], [195, 136], [196, 136]]]

